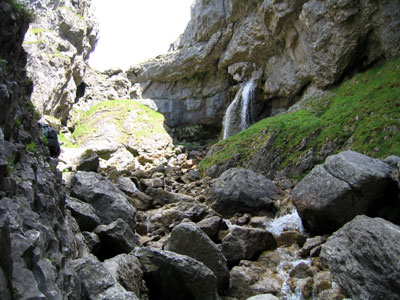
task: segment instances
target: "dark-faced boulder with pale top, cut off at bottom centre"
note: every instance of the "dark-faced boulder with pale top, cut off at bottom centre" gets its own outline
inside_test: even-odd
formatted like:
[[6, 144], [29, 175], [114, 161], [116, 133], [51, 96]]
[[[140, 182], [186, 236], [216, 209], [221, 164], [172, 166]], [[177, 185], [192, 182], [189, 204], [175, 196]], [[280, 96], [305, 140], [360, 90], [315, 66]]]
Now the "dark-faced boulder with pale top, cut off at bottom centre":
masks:
[[217, 278], [203, 263], [156, 248], [136, 248], [144, 267], [150, 299], [217, 300]]

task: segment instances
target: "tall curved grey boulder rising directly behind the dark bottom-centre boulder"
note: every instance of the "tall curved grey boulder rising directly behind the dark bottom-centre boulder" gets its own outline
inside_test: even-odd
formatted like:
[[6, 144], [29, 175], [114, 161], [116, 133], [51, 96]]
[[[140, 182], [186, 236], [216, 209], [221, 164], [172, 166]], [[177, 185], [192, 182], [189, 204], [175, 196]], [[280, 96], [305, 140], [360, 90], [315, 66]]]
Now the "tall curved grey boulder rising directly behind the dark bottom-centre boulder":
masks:
[[190, 256], [210, 268], [217, 277], [218, 291], [229, 285], [229, 270], [226, 258], [216, 244], [194, 223], [176, 226], [165, 247], [166, 250]]

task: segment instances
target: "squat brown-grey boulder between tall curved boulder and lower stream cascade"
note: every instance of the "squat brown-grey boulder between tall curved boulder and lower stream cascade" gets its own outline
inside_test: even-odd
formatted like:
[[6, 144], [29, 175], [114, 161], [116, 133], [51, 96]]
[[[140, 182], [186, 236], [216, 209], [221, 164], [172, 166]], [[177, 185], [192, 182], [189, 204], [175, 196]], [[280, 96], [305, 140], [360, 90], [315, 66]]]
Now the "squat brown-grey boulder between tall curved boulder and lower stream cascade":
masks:
[[233, 226], [222, 240], [222, 253], [228, 262], [252, 260], [264, 250], [276, 249], [272, 233], [262, 229]]

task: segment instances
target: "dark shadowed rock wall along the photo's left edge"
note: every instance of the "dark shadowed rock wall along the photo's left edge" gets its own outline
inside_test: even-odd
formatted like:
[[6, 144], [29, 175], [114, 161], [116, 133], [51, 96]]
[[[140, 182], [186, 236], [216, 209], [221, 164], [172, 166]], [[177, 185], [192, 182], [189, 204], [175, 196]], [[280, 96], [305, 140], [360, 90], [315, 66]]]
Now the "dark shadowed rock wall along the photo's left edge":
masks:
[[0, 57], [6, 61], [0, 71], [0, 157], [6, 162], [0, 177], [0, 298], [78, 299], [80, 283], [65, 259], [87, 252], [78, 246], [79, 229], [64, 209], [61, 174], [28, 101], [21, 47], [27, 17], [0, 1]]

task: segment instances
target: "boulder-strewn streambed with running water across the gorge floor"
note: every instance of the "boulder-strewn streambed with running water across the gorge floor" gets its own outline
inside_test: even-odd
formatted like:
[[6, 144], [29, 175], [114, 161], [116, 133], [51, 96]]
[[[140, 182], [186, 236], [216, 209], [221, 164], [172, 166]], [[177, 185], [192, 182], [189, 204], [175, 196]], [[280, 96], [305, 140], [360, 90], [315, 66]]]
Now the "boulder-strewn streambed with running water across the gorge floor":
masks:
[[[362, 280], [371, 280], [376, 287], [381, 283], [369, 277], [368, 266], [357, 266], [360, 254], [353, 253], [357, 249], [349, 242], [350, 233], [339, 229], [356, 215], [370, 213], [363, 210], [368, 205], [353, 201], [350, 206], [337, 207], [347, 201], [349, 191], [315, 176], [318, 167], [300, 183], [289, 179], [273, 182], [246, 169], [230, 169], [219, 178], [201, 178], [196, 164], [205, 156], [205, 147], [170, 145], [165, 149], [159, 165], [150, 163], [160, 161], [151, 153], [147, 160], [132, 156], [129, 163], [124, 155], [101, 158], [96, 152], [87, 155], [87, 151], [73, 158], [77, 150], [65, 150], [60, 157], [69, 194], [66, 207], [77, 221], [77, 234], [86, 249], [77, 269], [82, 268], [85, 275], [81, 279], [87, 286], [95, 284], [103, 270], [139, 299], [378, 299], [373, 298], [372, 290], [364, 292], [366, 298], [357, 296], [365, 291], [360, 277], [351, 275], [361, 272], [358, 267], [365, 272]], [[368, 193], [367, 201], [376, 202], [385, 191], [393, 197], [390, 193], [397, 169], [388, 163], [394, 166], [399, 158], [391, 157], [385, 163], [347, 151], [329, 161], [343, 171], [343, 181], [357, 181], [352, 186], [361, 190], [371, 185], [382, 187], [376, 195]], [[322, 180], [327, 186], [316, 193], [312, 191], [316, 185], [307, 184], [310, 180]], [[304, 186], [311, 191], [304, 192]], [[307, 201], [301, 200], [300, 194], [330, 202], [325, 207], [305, 207]], [[375, 207], [384, 212], [389, 202]], [[332, 212], [352, 217], [331, 222]], [[326, 217], [325, 223], [307, 221], [318, 214]], [[324, 227], [331, 223], [339, 229], [333, 236], [330, 227]], [[396, 233], [389, 235], [400, 234], [396, 225], [379, 218], [357, 217], [344, 228], [356, 228], [353, 234], [363, 235], [362, 245], [368, 250], [358, 250], [387, 253], [395, 245], [378, 246], [375, 240], [385, 238], [384, 233], [377, 237], [372, 229], [357, 232], [375, 228], [375, 223], [393, 227]], [[355, 255], [351, 267], [346, 263], [349, 257], [338, 247], [346, 249], [343, 252], [350, 257]], [[368, 263], [385, 265], [390, 259]], [[97, 267], [87, 272], [89, 261]], [[114, 285], [85, 293], [90, 299], [102, 299], [100, 295], [111, 293], [110, 289]], [[131, 299], [124, 297], [118, 299]]]

